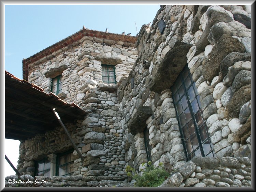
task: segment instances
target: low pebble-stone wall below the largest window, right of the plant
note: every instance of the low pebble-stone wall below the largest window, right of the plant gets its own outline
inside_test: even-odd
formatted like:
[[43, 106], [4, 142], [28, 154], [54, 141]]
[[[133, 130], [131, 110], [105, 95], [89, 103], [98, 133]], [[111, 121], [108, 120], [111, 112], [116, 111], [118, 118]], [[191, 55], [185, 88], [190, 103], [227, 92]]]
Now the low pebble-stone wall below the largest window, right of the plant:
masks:
[[194, 157], [160, 187], [251, 187], [251, 159]]

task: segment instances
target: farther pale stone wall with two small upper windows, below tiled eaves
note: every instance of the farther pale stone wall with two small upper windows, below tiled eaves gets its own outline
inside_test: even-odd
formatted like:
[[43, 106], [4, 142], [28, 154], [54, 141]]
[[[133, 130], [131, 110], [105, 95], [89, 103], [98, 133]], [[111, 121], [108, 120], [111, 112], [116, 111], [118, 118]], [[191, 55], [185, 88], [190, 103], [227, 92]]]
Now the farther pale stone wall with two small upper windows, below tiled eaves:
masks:
[[[74, 186], [99, 187], [126, 179], [117, 85], [102, 83], [101, 64], [114, 65], [115, 80], [119, 82], [121, 77], [128, 76], [138, 57], [134, 46], [129, 42], [84, 36], [52, 55], [29, 64], [30, 83], [49, 93], [52, 78], [62, 75], [62, 92], [58, 96], [67, 103], [77, 104], [87, 113], [84, 119], [66, 124], [84, 161], [74, 150], [73, 176], [66, 179], [58, 176], [52, 180], [47, 178], [53, 183], [52, 186], [66, 186], [63, 180], [72, 180]], [[69, 149], [74, 147], [68, 136], [61, 127], [56, 127], [21, 142], [17, 169], [22, 175], [34, 177], [35, 161]], [[41, 177], [36, 178], [40, 180]], [[69, 186], [72, 186], [71, 183]]]

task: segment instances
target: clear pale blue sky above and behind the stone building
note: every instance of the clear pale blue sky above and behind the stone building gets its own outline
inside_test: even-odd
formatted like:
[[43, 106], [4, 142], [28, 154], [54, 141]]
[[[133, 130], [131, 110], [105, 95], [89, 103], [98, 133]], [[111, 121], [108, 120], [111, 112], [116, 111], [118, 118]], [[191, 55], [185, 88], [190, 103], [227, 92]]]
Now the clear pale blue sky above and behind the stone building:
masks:
[[[4, 69], [22, 79], [22, 60], [82, 29], [136, 35], [152, 23], [160, 5], [5, 5]], [[17, 166], [19, 141], [5, 139], [5, 154]], [[8, 147], [9, 146], [9, 147]], [[10, 147], [11, 146], [11, 147]], [[4, 161], [4, 177], [15, 175]]]

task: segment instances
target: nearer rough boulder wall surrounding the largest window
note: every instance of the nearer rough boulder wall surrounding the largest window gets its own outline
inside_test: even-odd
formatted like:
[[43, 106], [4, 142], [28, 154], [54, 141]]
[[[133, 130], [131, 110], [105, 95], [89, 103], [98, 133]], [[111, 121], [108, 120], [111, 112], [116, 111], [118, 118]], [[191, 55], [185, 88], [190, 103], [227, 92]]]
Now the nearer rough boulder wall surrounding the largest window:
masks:
[[251, 157], [250, 17], [247, 5], [161, 5], [150, 29], [142, 26], [139, 57], [117, 90], [127, 165], [147, 162], [144, 129], [155, 165], [186, 163], [170, 91], [185, 65], [216, 157]]

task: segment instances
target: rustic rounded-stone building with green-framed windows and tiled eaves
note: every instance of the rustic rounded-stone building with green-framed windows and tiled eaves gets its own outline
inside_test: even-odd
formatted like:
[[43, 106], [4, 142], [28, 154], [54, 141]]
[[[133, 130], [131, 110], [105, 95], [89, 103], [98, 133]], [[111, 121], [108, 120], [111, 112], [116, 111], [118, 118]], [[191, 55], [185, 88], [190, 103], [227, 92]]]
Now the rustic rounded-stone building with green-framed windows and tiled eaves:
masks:
[[130, 187], [125, 167], [153, 161], [174, 172], [161, 187], [251, 187], [251, 5], [161, 5], [138, 37], [84, 28], [23, 78], [84, 112], [65, 123], [77, 150], [58, 125], [19, 139], [35, 186]]

